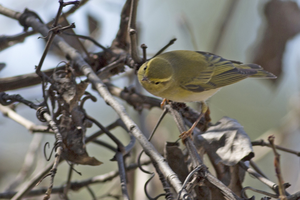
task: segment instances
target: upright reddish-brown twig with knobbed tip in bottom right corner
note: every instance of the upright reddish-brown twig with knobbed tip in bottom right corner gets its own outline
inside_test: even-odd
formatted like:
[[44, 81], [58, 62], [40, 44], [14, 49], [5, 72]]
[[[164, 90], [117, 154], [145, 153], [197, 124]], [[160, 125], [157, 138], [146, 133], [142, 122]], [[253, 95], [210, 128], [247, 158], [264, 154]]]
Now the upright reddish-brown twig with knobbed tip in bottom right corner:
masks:
[[280, 170], [280, 154], [277, 153], [276, 148], [275, 148], [275, 144], [274, 144], [274, 140], [275, 140], [275, 136], [271, 135], [268, 137], [268, 141], [271, 144], [271, 147], [273, 149], [274, 152], [274, 166], [275, 166], [275, 172], [276, 172], [276, 176], [278, 179], [278, 190], [279, 190], [279, 198], [281, 200], [286, 200], [286, 195], [285, 195], [285, 190], [283, 187], [283, 178], [281, 175], [281, 170]]

